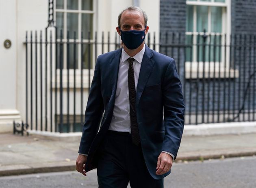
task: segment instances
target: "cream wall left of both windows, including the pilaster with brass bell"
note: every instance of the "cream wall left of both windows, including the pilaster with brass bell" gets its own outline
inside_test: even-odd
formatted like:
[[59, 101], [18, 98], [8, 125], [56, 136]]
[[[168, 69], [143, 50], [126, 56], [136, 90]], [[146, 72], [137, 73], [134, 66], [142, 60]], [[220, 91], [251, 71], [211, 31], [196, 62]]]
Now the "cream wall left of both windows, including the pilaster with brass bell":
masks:
[[[24, 120], [25, 31], [43, 29], [47, 14], [47, 1], [0, 0], [0, 132], [12, 131], [13, 120]], [[4, 48], [5, 39], [11, 48]]]

